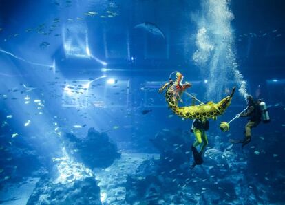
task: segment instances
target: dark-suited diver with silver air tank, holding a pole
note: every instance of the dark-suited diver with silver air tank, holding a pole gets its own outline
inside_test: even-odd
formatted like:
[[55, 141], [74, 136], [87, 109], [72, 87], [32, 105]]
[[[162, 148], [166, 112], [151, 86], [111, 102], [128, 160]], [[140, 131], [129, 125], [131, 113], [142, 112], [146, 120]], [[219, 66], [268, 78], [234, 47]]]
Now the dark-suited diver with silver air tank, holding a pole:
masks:
[[251, 142], [251, 129], [257, 127], [261, 121], [264, 123], [270, 122], [268, 111], [266, 109], [265, 102], [262, 100], [254, 100], [253, 96], [249, 95], [246, 97], [247, 100], [247, 109], [242, 114], [237, 114], [237, 118], [240, 117], [249, 117], [249, 122], [245, 126], [245, 137], [244, 140], [233, 140], [230, 139], [229, 142], [233, 144], [242, 143], [242, 148]]

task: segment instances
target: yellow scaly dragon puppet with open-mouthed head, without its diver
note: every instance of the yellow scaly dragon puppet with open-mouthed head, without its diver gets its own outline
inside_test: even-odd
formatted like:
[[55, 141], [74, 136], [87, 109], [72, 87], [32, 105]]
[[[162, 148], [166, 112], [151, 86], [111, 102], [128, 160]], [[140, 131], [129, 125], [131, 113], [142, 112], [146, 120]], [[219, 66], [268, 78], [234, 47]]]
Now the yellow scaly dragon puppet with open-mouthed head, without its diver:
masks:
[[[179, 75], [182, 76], [182, 74], [178, 73], [176, 74], [176, 77]], [[166, 83], [165, 85], [160, 87], [159, 92], [161, 93], [163, 90], [167, 89], [165, 93], [165, 100], [167, 101], [169, 108], [172, 109], [172, 111], [176, 115], [184, 119], [187, 118], [200, 119], [200, 120], [205, 120], [208, 118], [216, 119], [217, 116], [224, 114], [224, 111], [226, 111], [226, 109], [231, 104], [231, 99], [233, 98], [233, 94], [235, 93], [235, 87], [234, 87], [233, 91], [231, 92], [231, 95], [226, 96], [226, 98], [220, 100], [220, 102], [218, 103], [207, 102], [207, 104], [179, 107], [178, 100], [180, 100], [182, 93], [185, 91], [185, 89], [190, 87], [191, 84], [190, 83], [182, 84], [181, 82], [178, 82], [178, 80], [179, 78], [176, 79], [174, 83], [173, 81]], [[177, 93], [179, 93], [180, 96], [177, 97]]]

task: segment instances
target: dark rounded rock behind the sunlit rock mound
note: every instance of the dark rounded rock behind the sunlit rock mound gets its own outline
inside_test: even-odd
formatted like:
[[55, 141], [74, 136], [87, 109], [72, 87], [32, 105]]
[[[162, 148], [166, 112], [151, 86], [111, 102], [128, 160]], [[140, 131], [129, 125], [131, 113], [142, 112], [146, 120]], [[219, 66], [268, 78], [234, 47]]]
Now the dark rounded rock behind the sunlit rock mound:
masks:
[[109, 140], [107, 133], [99, 133], [94, 128], [90, 128], [83, 139], [67, 133], [65, 147], [67, 153], [90, 169], [107, 168], [120, 158], [116, 144]]

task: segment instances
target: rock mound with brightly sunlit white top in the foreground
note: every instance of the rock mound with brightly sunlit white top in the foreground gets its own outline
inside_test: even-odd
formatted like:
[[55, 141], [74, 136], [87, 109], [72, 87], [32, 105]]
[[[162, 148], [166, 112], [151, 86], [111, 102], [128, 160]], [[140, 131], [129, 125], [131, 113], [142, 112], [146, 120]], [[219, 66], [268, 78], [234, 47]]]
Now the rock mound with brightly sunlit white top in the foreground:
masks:
[[63, 157], [54, 158], [52, 171], [41, 177], [28, 205], [32, 204], [94, 204], [101, 205], [100, 188], [94, 174], [75, 162], [63, 148]]

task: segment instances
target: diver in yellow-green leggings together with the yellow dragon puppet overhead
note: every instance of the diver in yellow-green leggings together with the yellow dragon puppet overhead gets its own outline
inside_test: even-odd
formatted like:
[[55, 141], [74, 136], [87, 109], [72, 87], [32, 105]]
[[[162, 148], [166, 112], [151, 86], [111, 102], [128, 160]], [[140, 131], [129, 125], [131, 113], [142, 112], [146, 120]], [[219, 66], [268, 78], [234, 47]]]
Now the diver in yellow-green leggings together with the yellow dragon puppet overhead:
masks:
[[[235, 93], [235, 87], [233, 88], [230, 96], [227, 96], [226, 98], [220, 100], [218, 103], [207, 102], [207, 104], [201, 103], [200, 105], [180, 107], [178, 106], [178, 101], [182, 102], [182, 94], [184, 91], [186, 91], [187, 88], [191, 87], [191, 83], [182, 83], [183, 78], [184, 77], [180, 72], [176, 72], [175, 81], [171, 79], [170, 75], [169, 82], [160, 87], [159, 92], [162, 93], [162, 91], [166, 89], [165, 100], [167, 101], [169, 109], [171, 109], [176, 115], [184, 119], [194, 120], [193, 133], [196, 137], [196, 141], [191, 148], [194, 158], [194, 163], [191, 166], [191, 169], [193, 169], [196, 164], [200, 165], [203, 163], [202, 155], [208, 144], [207, 136], [205, 133], [205, 131], [209, 129], [208, 119], [216, 119], [217, 116], [224, 114], [224, 111], [226, 111], [226, 109], [231, 104], [231, 99]], [[196, 98], [193, 97], [193, 100], [195, 99]], [[196, 149], [198, 145], [202, 145], [199, 152]]]

